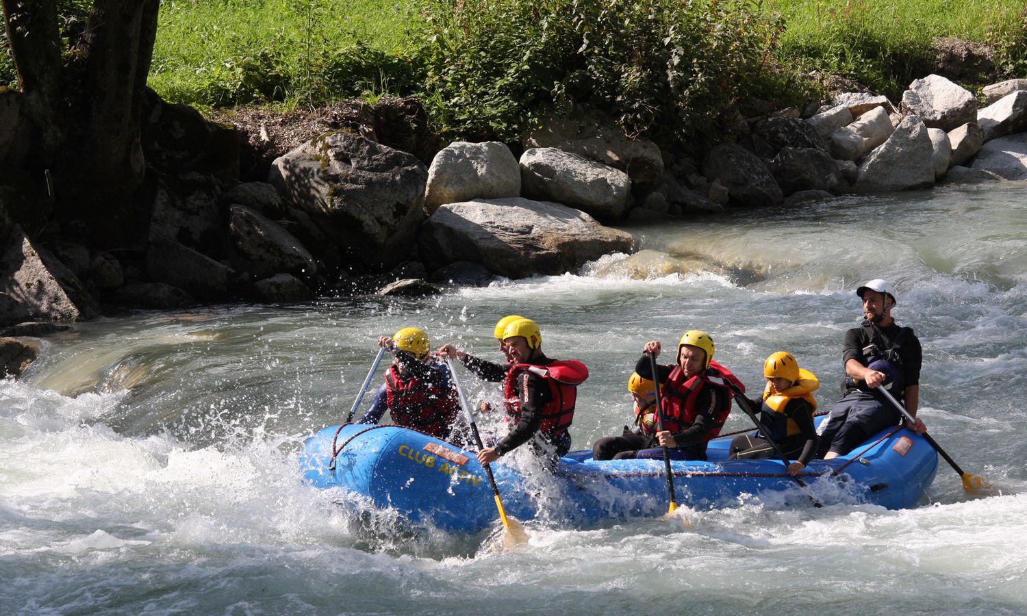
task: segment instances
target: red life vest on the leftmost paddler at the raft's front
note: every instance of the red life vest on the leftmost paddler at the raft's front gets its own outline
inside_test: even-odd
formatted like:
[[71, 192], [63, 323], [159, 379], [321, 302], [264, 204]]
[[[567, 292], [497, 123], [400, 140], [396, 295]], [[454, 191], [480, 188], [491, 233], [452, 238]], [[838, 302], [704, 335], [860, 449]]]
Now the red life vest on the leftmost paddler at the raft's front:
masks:
[[395, 365], [390, 365], [385, 373], [385, 401], [392, 414], [392, 423], [439, 438], [449, 436], [460, 409], [453, 388], [443, 389], [420, 379], [406, 378]]

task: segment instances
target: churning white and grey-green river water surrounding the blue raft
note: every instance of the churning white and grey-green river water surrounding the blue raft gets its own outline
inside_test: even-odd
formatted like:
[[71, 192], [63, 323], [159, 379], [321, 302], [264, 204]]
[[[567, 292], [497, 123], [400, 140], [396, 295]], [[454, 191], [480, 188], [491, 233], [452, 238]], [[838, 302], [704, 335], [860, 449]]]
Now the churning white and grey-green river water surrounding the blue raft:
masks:
[[[632, 227], [644, 252], [578, 275], [426, 300], [321, 300], [128, 314], [46, 339], [0, 382], [0, 611], [20, 614], [1027, 613], [1027, 185], [844, 198]], [[793, 352], [829, 408], [854, 288], [891, 280], [924, 347], [921, 411], [944, 461], [923, 504], [783, 508], [743, 499], [680, 521], [408, 532], [300, 482], [302, 439], [340, 423], [374, 339], [415, 324], [498, 358], [535, 318], [592, 371], [575, 449], [619, 432], [646, 340], [712, 333], [752, 389]], [[462, 378], [471, 397], [493, 387]], [[380, 382], [380, 381], [377, 381]], [[377, 384], [376, 382], [376, 384]], [[740, 413], [727, 429], [745, 427]]]

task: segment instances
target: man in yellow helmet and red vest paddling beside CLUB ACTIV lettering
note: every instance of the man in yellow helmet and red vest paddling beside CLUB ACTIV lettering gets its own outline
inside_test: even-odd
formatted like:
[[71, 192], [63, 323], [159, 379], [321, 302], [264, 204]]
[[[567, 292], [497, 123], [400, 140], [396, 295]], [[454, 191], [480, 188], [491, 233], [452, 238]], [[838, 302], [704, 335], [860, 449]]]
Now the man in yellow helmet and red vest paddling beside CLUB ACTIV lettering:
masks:
[[[551, 466], [570, 451], [568, 428], [574, 419], [577, 386], [588, 377], [588, 369], [574, 359], [546, 357], [542, 352], [542, 333], [535, 321], [506, 317], [497, 323], [497, 331], [500, 324], [503, 330], [497, 338], [501, 336], [503, 353], [509, 358], [503, 367], [457, 351], [450, 345], [440, 349], [441, 353], [459, 358], [486, 380], [503, 382], [510, 429], [494, 446], [479, 452], [478, 460], [489, 464], [530, 444], [531, 451], [546, 466]], [[497, 379], [500, 370], [505, 372]]]

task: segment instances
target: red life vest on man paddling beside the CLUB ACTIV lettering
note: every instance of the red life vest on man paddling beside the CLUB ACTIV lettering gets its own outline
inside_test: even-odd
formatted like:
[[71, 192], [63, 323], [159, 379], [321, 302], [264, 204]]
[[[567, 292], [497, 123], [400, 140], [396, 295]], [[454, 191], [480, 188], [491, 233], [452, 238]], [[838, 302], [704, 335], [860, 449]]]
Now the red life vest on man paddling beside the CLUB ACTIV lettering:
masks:
[[550, 436], [559, 435], [574, 420], [577, 386], [588, 378], [588, 369], [576, 359], [555, 359], [545, 365], [515, 363], [510, 367], [506, 373], [503, 397], [506, 399], [506, 414], [515, 425], [521, 421], [521, 397], [517, 391], [517, 381], [526, 372], [542, 377], [549, 386], [550, 399], [542, 408], [542, 423], [538, 431]]

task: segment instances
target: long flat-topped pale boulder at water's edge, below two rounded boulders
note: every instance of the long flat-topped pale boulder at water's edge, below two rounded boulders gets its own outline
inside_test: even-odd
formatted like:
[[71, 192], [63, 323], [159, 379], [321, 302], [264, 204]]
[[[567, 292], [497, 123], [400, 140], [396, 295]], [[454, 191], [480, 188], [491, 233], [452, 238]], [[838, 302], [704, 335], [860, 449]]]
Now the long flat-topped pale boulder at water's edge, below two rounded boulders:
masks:
[[418, 238], [429, 269], [456, 261], [481, 263], [508, 278], [574, 271], [608, 253], [632, 248], [630, 233], [600, 225], [587, 214], [523, 198], [448, 203]]

